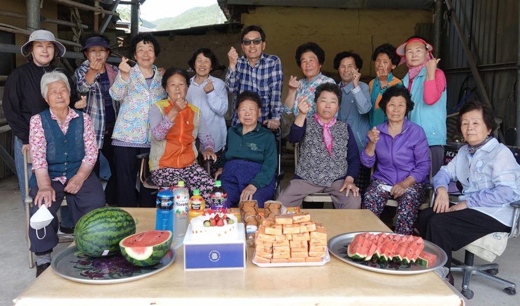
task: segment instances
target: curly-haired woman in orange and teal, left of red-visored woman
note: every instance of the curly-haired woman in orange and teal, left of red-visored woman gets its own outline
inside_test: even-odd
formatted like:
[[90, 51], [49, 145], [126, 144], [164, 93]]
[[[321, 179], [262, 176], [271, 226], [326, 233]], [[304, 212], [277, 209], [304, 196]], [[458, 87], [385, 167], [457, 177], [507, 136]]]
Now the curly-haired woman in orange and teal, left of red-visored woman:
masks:
[[386, 89], [402, 85], [401, 80], [392, 73], [399, 64], [399, 57], [395, 53], [394, 46], [382, 44], [375, 48], [372, 60], [374, 61], [376, 77], [368, 84], [372, 102], [372, 109], [369, 112], [370, 128], [386, 121], [384, 110], [379, 105]]

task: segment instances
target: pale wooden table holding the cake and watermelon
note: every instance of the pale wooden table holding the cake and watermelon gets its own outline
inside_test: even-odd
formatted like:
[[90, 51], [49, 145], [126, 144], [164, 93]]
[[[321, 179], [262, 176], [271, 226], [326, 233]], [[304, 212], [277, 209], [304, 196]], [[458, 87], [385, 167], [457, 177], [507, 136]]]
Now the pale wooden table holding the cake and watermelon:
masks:
[[[126, 209], [138, 220], [137, 231], [154, 228], [153, 208]], [[329, 238], [355, 231], [388, 231], [370, 210], [316, 209]], [[331, 256], [321, 267], [184, 271], [183, 248], [164, 271], [142, 280], [110, 285], [69, 281], [47, 269], [14, 303], [16, 306], [81, 305], [461, 305], [434, 272], [390, 275], [362, 270]]]

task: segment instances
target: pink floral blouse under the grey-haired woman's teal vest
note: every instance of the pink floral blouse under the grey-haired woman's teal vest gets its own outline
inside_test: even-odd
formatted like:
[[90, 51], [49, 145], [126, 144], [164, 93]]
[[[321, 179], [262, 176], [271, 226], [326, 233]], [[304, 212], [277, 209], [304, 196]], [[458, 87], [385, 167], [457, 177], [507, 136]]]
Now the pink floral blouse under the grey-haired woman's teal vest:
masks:
[[[58, 117], [50, 111], [50, 118], [56, 120], [60, 127], [63, 135], [67, 134], [69, 129], [69, 123], [73, 118], [77, 118], [80, 115], [74, 110], [69, 108], [69, 114], [65, 119], [65, 123], [61, 124]], [[94, 167], [98, 157], [98, 146], [96, 140], [96, 134], [92, 125], [92, 119], [87, 114], [83, 114], [83, 142], [85, 149], [85, 157], [82, 162], [87, 163]], [[31, 117], [30, 132], [29, 132], [29, 145], [31, 148], [32, 156], [32, 170], [36, 169], [47, 169], [47, 140], [45, 139], [45, 131], [42, 125], [42, 117], [40, 114]], [[67, 181], [67, 177], [57, 177], [53, 181], [59, 181], [64, 184]]]

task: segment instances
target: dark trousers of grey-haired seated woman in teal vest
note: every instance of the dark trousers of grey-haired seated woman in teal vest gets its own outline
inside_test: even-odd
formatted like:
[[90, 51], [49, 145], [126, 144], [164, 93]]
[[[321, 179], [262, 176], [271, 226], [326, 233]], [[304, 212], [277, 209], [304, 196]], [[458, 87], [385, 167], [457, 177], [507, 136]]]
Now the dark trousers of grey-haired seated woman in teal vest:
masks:
[[[63, 197], [67, 196], [67, 207], [72, 212], [73, 226], [76, 225], [77, 220], [80, 220], [87, 212], [96, 208], [105, 206], [105, 194], [103, 187], [98, 177], [94, 172], [90, 172], [88, 178], [83, 182], [82, 187], [76, 194], [65, 192], [63, 189], [65, 185], [57, 181], [50, 182], [56, 192], [56, 202], [50, 205], [49, 211], [54, 219], [44, 229], [36, 230], [29, 227], [29, 239], [31, 241], [31, 251], [36, 255], [43, 255], [53, 250], [58, 244], [59, 221], [56, 212], [60, 208]], [[38, 187], [35, 186], [29, 191], [29, 195], [34, 198], [38, 193]], [[34, 205], [31, 210], [31, 216], [38, 210], [38, 206]], [[39, 238], [38, 238], [39, 237]], [[43, 238], [42, 238], [43, 237]], [[40, 239], [41, 238], [41, 239]]]

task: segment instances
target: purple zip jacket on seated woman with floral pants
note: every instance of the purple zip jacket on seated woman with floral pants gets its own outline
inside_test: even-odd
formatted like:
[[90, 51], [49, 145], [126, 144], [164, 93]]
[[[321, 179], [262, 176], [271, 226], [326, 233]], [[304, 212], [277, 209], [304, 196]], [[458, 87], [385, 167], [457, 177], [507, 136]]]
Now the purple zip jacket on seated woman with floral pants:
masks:
[[366, 167], [372, 167], [377, 161], [372, 179], [380, 179], [393, 186], [411, 175], [415, 182], [427, 183], [431, 159], [422, 127], [405, 119], [401, 133], [394, 139], [388, 134], [388, 122], [376, 128], [380, 130], [380, 136], [375, 144], [374, 156], [368, 156], [365, 150], [361, 153], [361, 163]]

